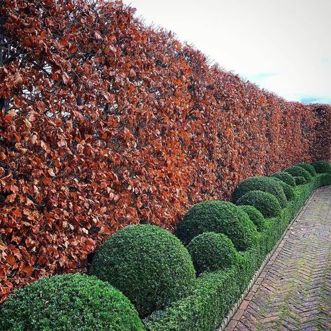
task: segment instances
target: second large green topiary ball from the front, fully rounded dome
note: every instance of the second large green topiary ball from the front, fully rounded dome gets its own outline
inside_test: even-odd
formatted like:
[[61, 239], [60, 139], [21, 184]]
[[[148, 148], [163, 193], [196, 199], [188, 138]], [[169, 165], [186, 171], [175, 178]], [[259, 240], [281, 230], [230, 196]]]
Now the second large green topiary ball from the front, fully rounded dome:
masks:
[[96, 252], [89, 273], [121, 290], [142, 317], [188, 295], [196, 279], [182, 242], [149, 224], [111, 235]]

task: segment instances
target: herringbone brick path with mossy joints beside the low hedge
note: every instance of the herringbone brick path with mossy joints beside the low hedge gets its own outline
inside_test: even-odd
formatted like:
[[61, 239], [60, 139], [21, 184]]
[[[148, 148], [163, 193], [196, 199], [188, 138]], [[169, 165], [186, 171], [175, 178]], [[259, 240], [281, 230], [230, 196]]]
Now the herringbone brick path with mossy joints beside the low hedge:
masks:
[[331, 330], [331, 186], [311, 196], [230, 330]]

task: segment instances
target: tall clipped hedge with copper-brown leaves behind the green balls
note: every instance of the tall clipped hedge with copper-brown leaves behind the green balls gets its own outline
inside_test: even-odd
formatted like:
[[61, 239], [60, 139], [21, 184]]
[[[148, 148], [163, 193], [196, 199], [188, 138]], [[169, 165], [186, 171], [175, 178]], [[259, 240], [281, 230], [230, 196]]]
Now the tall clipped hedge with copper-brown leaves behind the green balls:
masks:
[[[121, 2], [0, 0], [1, 300], [127, 224], [330, 159], [330, 106], [209, 66]], [[329, 121], [329, 122], [328, 122]], [[329, 139], [329, 140], [327, 140]]]

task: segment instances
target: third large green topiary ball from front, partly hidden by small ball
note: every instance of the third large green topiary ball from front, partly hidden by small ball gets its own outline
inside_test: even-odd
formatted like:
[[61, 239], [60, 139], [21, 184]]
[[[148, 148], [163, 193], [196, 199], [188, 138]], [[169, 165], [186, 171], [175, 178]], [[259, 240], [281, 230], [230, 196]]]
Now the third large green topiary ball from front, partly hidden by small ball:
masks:
[[256, 227], [233, 203], [208, 200], [193, 205], [177, 225], [176, 235], [185, 245], [205, 232], [223, 233], [238, 251], [249, 249], [256, 240]]

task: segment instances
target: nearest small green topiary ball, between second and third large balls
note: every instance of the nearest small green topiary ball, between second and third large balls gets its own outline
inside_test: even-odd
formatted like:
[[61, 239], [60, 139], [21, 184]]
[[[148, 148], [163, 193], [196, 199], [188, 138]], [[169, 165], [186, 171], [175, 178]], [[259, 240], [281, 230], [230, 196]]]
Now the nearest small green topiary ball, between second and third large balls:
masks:
[[194, 237], [187, 246], [197, 274], [214, 272], [237, 265], [240, 254], [222, 233], [207, 232]]

